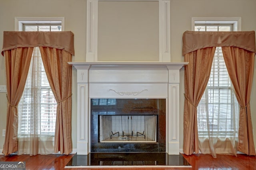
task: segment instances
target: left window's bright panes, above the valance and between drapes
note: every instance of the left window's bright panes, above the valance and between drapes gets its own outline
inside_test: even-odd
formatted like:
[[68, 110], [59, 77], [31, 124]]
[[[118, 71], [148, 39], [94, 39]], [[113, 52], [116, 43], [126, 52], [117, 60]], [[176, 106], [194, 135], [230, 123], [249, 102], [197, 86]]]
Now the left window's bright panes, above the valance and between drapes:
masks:
[[[22, 23], [24, 31], [62, 31], [61, 23]], [[57, 103], [50, 88], [39, 47], [35, 47], [24, 92], [18, 106], [18, 137], [27, 134], [54, 136]]]

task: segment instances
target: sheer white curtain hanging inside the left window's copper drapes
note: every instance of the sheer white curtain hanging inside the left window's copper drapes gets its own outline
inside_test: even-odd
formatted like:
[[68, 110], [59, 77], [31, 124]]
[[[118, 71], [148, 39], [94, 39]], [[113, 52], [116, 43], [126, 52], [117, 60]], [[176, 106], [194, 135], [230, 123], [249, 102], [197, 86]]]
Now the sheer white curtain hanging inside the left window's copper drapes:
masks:
[[32, 54], [18, 110], [18, 154], [53, 153], [56, 100], [50, 89], [38, 47], [34, 48]]

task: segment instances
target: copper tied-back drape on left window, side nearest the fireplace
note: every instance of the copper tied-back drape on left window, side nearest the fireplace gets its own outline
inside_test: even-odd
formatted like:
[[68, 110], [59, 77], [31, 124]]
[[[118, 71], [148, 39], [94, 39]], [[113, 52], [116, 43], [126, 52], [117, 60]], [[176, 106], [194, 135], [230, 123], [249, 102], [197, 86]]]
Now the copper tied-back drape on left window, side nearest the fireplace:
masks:
[[39, 47], [44, 69], [57, 101], [54, 152], [72, 152], [71, 111], [72, 111], [72, 55], [66, 51]]

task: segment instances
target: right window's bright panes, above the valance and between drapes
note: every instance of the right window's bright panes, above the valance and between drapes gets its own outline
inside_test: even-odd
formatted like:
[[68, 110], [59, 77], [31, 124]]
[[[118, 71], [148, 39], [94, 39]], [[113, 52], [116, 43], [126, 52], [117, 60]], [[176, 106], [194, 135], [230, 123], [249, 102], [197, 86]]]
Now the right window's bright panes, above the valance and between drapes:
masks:
[[[233, 31], [232, 23], [196, 23], [195, 31]], [[216, 47], [210, 78], [197, 107], [198, 136], [238, 136], [239, 105], [232, 88], [222, 48]], [[208, 123], [207, 123], [208, 121]], [[210, 129], [208, 129], [208, 126]], [[209, 130], [209, 131], [208, 131]], [[210, 134], [208, 134], [210, 132]]]

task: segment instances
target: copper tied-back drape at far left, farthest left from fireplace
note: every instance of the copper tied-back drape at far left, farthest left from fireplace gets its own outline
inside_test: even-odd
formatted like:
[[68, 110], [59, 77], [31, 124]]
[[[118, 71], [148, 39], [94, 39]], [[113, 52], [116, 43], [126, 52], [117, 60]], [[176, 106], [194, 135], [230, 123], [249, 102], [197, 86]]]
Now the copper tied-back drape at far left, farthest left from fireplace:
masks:
[[18, 150], [18, 104], [22, 96], [31, 56], [32, 47], [5, 51], [7, 120], [6, 135], [2, 153], [11, 154]]

